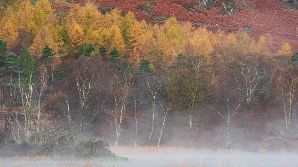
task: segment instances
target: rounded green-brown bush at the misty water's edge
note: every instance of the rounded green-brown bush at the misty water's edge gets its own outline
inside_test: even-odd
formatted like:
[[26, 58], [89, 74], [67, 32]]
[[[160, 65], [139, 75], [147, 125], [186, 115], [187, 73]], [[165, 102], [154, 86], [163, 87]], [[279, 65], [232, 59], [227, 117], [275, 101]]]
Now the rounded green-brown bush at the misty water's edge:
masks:
[[109, 144], [98, 138], [80, 141], [75, 151], [78, 153], [78, 156], [86, 158], [106, 157], [111, 155]]

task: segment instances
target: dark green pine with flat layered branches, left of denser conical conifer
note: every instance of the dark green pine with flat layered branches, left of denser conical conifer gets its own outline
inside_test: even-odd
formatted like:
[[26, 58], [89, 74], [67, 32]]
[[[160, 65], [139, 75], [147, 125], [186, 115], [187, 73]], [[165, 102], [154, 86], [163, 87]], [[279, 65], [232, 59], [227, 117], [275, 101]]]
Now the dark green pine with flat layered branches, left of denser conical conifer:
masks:
[[19, 59], [18, 56], [13, 54], [9, 54], [6, 56], [5, 64], [7, 66], [7, 71], [10, 74], [10, 82], [12, 83], [12, 74], [17, 73], [19, 70]]

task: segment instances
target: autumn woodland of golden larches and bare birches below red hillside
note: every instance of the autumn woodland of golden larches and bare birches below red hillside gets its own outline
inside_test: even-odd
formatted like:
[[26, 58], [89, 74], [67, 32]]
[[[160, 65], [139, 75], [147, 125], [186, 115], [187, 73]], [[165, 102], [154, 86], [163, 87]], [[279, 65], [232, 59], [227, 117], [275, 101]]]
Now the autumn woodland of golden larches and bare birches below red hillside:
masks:
[[55, 1], [68, 14], [48, 0], [8, 4], [0, 20], [4, 146], [52, 143], [53, 151], [96, 137], [115, 146], [296, 151], [298, 53], [286, 41], [276, 47], [276, 33], [254, 40], [242, 27], [211, 31], [174, 16], [152, 24], [92, 2]]

